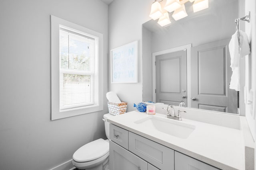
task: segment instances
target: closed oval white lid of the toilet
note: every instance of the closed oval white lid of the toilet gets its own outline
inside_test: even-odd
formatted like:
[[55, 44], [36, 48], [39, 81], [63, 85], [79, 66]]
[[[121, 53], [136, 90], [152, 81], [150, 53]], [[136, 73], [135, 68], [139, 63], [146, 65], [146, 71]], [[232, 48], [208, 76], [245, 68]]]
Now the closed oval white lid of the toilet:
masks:
[[98, 159], [109, 152], [109, 143], [104, 139], [97, 139], [80, 147], [73, 154], [76, 162], [88, 162]]

